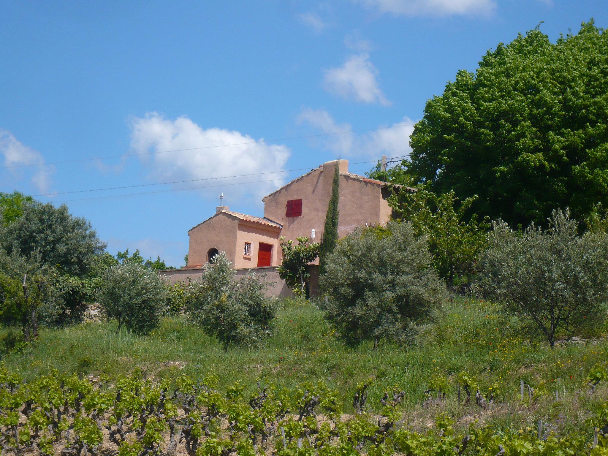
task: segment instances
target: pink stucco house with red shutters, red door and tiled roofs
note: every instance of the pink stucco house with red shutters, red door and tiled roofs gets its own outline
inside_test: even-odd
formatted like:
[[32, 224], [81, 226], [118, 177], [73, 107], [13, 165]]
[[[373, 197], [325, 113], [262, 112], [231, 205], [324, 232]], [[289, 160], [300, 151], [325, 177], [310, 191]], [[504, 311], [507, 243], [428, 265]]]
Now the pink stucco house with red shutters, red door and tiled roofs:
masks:
[[[196, 272], [221, 251], [226, 252], [237, 272], [244, 274], [250, 268], [263, 268], [260, 271], [276, 275], [275, 268], [282, 260], [280, 237], [295, 240], [305, 236], [320, 241], [336, 167], [340, 173], [338, 236], [345, 237], [357, 226], [389, 221], [392, 212], [387, 202], [389, 184], [349, 173], [347, 160], [326, 162], [264, 196], [263, 217], [233, 212], [227, 206], [217, 207], [214, 215], [188, 231], [188, 265], [166, 271], [165, 275], [195, 278], [200, 274]], [[309, 272], [310, 291], [315, 294], [318, 266], [311, 264]], [[278, 275], [273, 278], [278, 279]], [[272, 293], [286, 294], [284, 288]]]

